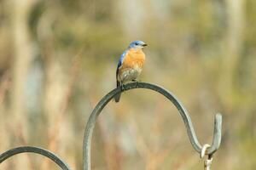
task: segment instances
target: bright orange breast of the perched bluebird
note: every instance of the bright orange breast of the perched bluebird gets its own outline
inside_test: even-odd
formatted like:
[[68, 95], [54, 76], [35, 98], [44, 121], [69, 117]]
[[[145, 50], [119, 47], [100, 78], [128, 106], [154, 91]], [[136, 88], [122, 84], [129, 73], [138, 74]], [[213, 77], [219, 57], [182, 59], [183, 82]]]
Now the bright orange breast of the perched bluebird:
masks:
[[143, 68], [145, 62], [145, 54], [142, 49], [130, 49], [123, 61], [122, 69], [139, 67]]

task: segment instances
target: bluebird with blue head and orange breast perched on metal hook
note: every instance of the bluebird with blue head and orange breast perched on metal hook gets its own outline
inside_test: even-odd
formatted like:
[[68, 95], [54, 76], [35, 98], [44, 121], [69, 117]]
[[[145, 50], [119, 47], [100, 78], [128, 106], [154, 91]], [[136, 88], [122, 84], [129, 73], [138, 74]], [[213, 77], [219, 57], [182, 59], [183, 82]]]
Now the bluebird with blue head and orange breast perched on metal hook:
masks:
[[[123, 90], [123, 85], [126, 82], [137, 82], [137, 78], [143, 71], [143, 65], [145, 63], [145, 54], [143, 48], [148, 44], [136, 40], [130, 43], [128, 48], [119, 58], [119, 63], [116, 69], [116, 86]], [[114, 96], [115, 102], [119, 102], [121, 93]]]

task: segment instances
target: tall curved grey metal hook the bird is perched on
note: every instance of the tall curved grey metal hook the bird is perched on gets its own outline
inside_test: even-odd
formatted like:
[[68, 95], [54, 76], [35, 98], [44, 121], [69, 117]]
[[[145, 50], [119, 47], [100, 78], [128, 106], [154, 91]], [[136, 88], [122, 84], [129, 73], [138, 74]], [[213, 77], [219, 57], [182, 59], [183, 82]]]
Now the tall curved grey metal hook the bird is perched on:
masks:
[[[198, 153], [201, 153], [202, 147], [196, 137], [195, 130], [191, 122], [189, 113], [188, 111], [186, 111], [186, 109], [183, 107], [183, 105], [175, 95], [168, 92], [164, 88], [160, 88], [159, 86], [156, 86], [154, 84], [149, 84], [146, 82], [132, 82], [124, 85], [124, 91], [130, 90], [132, 88], [148, 88], [160, 94], [163, 94], [164, 96], [166, 96], [167, 99], [172, 101], [172, 104], [176, 106], [177, 110], [179, 111], [180, 115], [183, 118], [183, 122], [187, 129], [190, 143]], [[85, 131], [84, 131], [84, 145], [83, 145], [84, 170], [90, 170], [90, 142], [91, 142], [91, 137], [93, 133], [93, 128], [95, 127], [95, 124], [96, 124], [96, 118], [97, 116], [99, 116], [99, 114], [101, 113], [105, 105], [107, 105], [108, 102], [111, 99], [113, 99], [113, 97], [116, 94], [119, 94], [119, 93], [121, 93], [121, 88], [113, 89], [111, 92], [109, 92], [107, 95], [105, 95], [101, 99], [101, 101], [96, 105], [95, 109], [90, 114], [89, 120], [86, 124]], [[215, 116], [215, 122], [214, 122], [212, 146], [207, 150], [207, 155], [212, 155], [219, 148], [219, 145], [221, 142], [221, 126], [222, 126], [222, 116], [221, 114], [217, 114]]]

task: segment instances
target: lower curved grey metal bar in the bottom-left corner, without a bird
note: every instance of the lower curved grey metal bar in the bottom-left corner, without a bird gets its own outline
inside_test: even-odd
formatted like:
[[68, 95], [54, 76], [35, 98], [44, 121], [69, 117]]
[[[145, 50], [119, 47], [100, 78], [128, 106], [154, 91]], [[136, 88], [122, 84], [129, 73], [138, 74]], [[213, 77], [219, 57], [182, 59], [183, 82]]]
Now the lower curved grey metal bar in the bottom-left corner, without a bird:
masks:
[[2, 163], [3, 161], [5, 161], [11, 156], [15, 156], [16, 154], [25, 153], [25, 152], [32, 152], [42, 156], [46, 156], [50, 160], [55, 161], [55, 163], [59, 167], [61, 167], [61, 169], [71, 170], [71, 168], [68, 167], [68, 165], [64, 161], [62, 161], [60, 157], [56, 156], [54, 153], [50, 152], [49, 150], [44, 150], [43, 148], [38, 148], [33, 146], [21, 146], [21, 147], [17, 147], [17, 148], [3, 152], [0, 155], [0, 163]]

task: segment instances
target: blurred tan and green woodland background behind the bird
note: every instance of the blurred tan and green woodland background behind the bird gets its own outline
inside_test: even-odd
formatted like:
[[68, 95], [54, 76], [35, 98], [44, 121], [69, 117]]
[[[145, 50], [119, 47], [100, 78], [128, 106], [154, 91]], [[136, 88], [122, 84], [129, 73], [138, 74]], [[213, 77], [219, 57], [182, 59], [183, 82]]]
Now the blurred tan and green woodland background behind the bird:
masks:
[[[253, 0], [0, 1], [0, 152], [35, 145], [82, 169], [85, 123], [139, 39], [148, 43], [141, 81], [183, 102], [201, 144], [223, 114], [212, 169], [255, 169], [255, 9]], [[95, 170], [203, 168], [178, 111], [147, 89], [110, 102], [92, 144]], [[22, 154], [0, 169], [59, 168]]]

